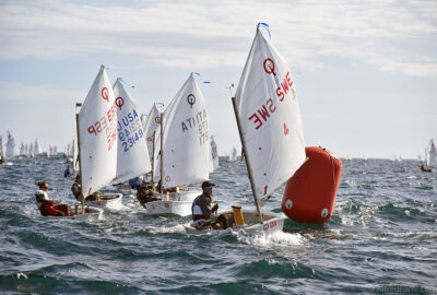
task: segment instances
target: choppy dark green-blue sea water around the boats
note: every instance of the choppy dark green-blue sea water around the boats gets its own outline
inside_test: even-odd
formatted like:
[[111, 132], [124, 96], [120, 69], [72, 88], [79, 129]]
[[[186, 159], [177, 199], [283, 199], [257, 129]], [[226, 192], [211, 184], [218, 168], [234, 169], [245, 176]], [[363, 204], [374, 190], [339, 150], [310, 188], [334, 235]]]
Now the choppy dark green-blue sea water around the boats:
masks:
[[[2, 294], [433, 294], [437, 293], [437, 174], [417, 161], [343, 161], [331, 221], [287, 220], [271, 238], [189, 236], [190, 217], [145, 214], [123, 190], [119, 211], [95, 224], [40, 216], [38, 180], [73, 201], [67, 162], [0, 166]], [[211, 176], [221, 209], [253, 208], [243, 162]], [[277, 190], [264, 209], [280, 212]]]

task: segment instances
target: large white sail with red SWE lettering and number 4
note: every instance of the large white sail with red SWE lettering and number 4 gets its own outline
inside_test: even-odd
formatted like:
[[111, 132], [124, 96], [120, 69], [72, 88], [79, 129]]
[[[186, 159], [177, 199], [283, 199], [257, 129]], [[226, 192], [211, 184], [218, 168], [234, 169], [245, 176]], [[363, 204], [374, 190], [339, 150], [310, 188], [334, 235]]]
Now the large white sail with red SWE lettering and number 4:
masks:
[[259, 196], [270, 194], [306, 158], [299, 106], [287, 62], [258, 28], [236, 105]]

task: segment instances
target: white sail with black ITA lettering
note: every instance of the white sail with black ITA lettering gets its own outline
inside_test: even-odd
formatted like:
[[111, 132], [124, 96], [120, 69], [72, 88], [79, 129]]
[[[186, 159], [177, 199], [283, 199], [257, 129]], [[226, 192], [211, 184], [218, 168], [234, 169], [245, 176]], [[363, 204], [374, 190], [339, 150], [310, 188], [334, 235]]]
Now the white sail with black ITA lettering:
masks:
[[[163, 126], [163, 186], [206, 180], [211, 156], [206, 102], [192, 74], [165, 109]], [[160, 140], [158, 133], [156, 142]], [[155, 150], [156, 158], [160, 148]], [[155, 180], [158, 180], [160, 161], [155, 161]]]

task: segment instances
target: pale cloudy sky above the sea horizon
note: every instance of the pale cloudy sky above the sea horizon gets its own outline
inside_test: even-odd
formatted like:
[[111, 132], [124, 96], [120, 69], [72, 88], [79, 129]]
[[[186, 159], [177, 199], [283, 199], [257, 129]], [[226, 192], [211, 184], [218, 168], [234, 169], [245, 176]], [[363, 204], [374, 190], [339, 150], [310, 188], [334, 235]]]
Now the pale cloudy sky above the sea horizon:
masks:
[[141, 114], [199, 72], [210, 133], [228, 154], [240, 149], [231, 95], [259, 22], [291, 67], [306, 146], [424, 157], [437, 139], [434, 0], [0, 0], [0, 132], [62, 151], [101, 64], [134, 85]]

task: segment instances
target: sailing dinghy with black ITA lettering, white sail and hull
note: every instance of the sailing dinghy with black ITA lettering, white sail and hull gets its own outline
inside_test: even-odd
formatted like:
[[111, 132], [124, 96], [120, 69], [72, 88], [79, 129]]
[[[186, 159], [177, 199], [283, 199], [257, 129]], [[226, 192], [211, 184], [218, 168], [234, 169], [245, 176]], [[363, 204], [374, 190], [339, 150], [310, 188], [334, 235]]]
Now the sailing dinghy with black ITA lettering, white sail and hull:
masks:
[[[155, 135], [155, 181], [162, 188], [189, 186], [204, 181], [210, 175], [211, 145], [206, 102], [193, 73], [161, 116], [160, 133]], [[152, 215], [191, 214], [192, 201], [200, 190], [173, 191], [161, 194], [162, 200], [146, 203]]]

